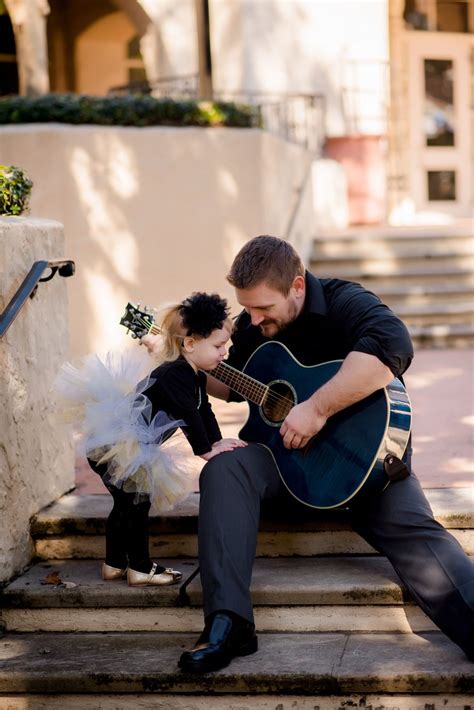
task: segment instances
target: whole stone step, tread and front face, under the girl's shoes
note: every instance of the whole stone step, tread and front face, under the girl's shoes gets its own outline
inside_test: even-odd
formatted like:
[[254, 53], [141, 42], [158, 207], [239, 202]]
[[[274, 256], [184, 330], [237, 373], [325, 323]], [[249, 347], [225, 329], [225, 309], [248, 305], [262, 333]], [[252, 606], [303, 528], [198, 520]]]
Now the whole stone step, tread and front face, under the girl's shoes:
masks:
[[[197, 567], [196, 560], [160, 562], [184, 577]], [[199, 576], [188, 587], [194, 608], [181, 608], [178, 586], [104, 582], [100, 568], [96, 560], [36, 564], [3, 590], [1, 623], [16, 632], [200, 630]], [[45, 583], [51, 574], [60, 585]], [[262, 631], [435, 630], [380, 557], [258, 559], [251, 590]]]

